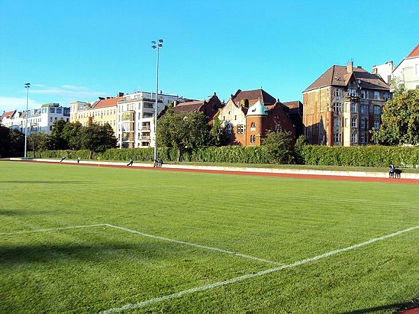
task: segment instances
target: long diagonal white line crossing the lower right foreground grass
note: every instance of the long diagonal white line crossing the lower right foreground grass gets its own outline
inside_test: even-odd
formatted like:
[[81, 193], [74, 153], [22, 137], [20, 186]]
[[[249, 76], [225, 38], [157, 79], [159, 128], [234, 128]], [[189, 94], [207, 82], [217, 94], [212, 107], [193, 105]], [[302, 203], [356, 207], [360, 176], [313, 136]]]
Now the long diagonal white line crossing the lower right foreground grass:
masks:
[[410, 227], [408, 229], [401, 230], [401, 231], [398, 231], [398, 232], [395, 232], [395, 233], [392, 233], [392, 234], [388, 234], [388, 235], [385, 235], [383, 237], [378, 237], [378, 238], [375, 238], [375, 239], [371, 239], [369, 241], [365, 241], [365, 242], [362, 242], [360, 244], [355, 244], [353, 246], [348, 246], [347, 248], [340, 248], [340, 249], [330, 251], [330, 252], [322, 254], [322, 255], [317, 255], [315, 257], [310, 257], [310, 258], [307, 258], [305, 260], [300, 260], [300, 261], [295, 262], [293, 264], [286, 264], [286, 265], [282, 265], [280, 267], [274, 267], [274, 268], [271, 268], [271, 269], [266, 269], [264, 271], [258, 271], [257, 273], [254, 273], [254, 274], [247, 274], [247, 275], [244, 275], [244, 276], [231, 278], [231, 279], [228, 279], [227, 281], [219, 281], [218, 283], [211, 283], [209, 285], [201, 285], [199, 287], [193, 287], [191, 289], [183, 290], [183, 291], [173, 293], [173, 294], [168, 294], [168, 295], [165, 295], [163, 297], [149, 299], [147, 301], [141, 301], [141, 302], [138, 302], [138, 303], [135, 303], [135, 304], [126, 304], [126, 305], [121, 306], [119, 308], [110, 308], [106, 311], [102, 311], [102, 312], [99, 312], [99, 313], [100, 314], [120, 313], [122, 311], [133, 310], [135, 308], [143, 308], [145, 306], [156, 304], [156, 303], [159, 303], [161, 301], [167, 301], [168, 299], [176, 299], [176, 298], [179, 298], [179, 297], [183, 297], [186, 294], [192, 294], [192, 293], [195, 293], [195, 292], [210, 290], [210, 289], [213, 289], [215, 287], [220, 287], [220, 286], [223, 286], [223, 285], [229, 285], [230, 283], [237, 283], [237, 281], [244, 281], [244, 280], [249, 279], [249, 278], [263, 276], [265, 274], [270, 274], [270, 273], [273, 273], [275, 271], [280, 271], [282, 269], [287, 269], [287, 268], [300, 266], [302, 264], [307, 264], [309, 262], [315, 262], [316, 260], [320, 260], [321, 258], [324, 258], [324, 257], [329, 257], [329, 256], [332, 256], [332, 255], [335, 255], [335, 254], [338, 254], [338, 253], [351, 251], [351, 250], [354, 250], [355, 248], [360, 248], [361, 246], [367, 246], [368, 244], [373, 244], [374, 242], [377, 242], [377, 241], [389, 239], [391, 237], [395, 237], [399, 234], [409, 232], [409, 231], [412, 231], [412, 230], [415, 230], [415, 229], [418, 229], [418, 228], [419, 228], [419, 225], [417, 225], [415, 227]]

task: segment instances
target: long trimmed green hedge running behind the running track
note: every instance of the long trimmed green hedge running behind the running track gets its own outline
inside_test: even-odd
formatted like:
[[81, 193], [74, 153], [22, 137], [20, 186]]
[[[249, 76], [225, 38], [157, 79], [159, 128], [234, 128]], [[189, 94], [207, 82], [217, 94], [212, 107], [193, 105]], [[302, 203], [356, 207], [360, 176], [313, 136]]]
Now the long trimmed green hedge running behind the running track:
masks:
[[[89, 159], [90, 151], [35, 151], [29, 152], [34, 158], [82, 158]], [[390, 163], [400, 167], [419, 167], [419, 147], [326, 147], [318, 145], [302, 145], [293, 151], [295, 163], [306, 165], [334, 165], [354, 167], [387, 167]], [[177, 150], [159, 147], [159, 158], [164, 162], [175, 161]], [[91, 158], [101, 160], [152, 161], [154, 149], [108, 149], [102, 153], [94, 153]], [[267, 150], [262, 147], [207, 147], [186, 150], [182, 153], [182, 161], [207, 163], [272, 163]]]

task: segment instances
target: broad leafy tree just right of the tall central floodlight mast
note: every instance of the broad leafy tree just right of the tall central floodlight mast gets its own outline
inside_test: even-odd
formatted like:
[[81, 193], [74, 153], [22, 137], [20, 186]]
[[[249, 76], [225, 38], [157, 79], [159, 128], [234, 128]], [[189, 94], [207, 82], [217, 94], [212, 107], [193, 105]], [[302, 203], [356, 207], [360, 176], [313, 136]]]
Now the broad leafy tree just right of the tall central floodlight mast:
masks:
[[177, 161], [182, 152], [214, 143], [207, 117], [203, 112], [181, 112], [176, 114], [168, 108], [157, 125], [157, 144], [177, 149]]

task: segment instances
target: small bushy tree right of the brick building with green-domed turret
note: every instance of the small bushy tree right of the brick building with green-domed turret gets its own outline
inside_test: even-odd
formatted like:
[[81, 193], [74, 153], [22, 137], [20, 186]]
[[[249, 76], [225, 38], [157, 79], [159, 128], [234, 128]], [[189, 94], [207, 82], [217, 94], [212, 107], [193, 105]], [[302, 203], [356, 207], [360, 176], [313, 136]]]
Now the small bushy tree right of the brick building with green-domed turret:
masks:
[[262, 140], [262, 146], [266, 149], [273, 163], [294, 163], [291, 133], [269, 130]]

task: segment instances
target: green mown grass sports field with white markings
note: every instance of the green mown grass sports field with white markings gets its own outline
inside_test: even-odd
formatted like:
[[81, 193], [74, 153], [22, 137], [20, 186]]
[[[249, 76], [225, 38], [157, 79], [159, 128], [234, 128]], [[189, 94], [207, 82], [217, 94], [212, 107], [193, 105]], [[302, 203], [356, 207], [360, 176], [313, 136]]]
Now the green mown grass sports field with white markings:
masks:
[[418, 185], [0, 173], [0, 313], [392, 313], [419, 296]]

